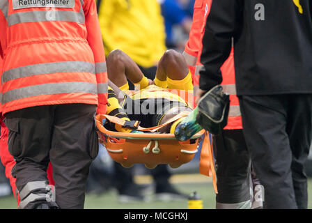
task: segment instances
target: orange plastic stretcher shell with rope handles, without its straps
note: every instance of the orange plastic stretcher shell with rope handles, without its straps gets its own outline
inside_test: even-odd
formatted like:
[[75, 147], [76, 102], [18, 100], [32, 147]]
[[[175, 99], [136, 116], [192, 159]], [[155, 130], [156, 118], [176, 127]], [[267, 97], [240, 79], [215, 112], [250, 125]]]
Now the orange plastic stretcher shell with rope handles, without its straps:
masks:
[[201, 130], [187, 141], [178, 141], [174, 134], [124, 133], [107, 130], [97, 116], [96, 125], [100, 141], [113, 160], [123, 167], [144, 164], [148, 169], [158, 164], [178, 168], [190, 162], [198, 152], [198, 142], [205, 133]]

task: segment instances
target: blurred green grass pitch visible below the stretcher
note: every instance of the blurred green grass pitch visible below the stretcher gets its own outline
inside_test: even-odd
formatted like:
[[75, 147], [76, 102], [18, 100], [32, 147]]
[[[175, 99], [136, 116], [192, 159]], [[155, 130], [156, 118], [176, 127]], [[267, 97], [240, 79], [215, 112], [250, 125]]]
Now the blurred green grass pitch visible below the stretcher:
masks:
[[[193, 191], [198, 192], [203, 199], [203, 208], [214, 209], [215, 194], [210, 180], [201, 180], [199, 174], [176, 174], [173, 178], [174, 185], [185, 194], [190, 194]], [[182, 177], [180, 177], [182, 176]], [[204, 176], [205, 177], [205, 176]], [[185, 179], [183, 179], [185, 178]], [[137, 179], [138, 183], [144, 181]], [[148, 181], [148, 180], [147, 180]], [[193, 181], [194, 183], [191, 183]], [[202, 181], [202, 182], [201, 182]], [[144, 183], [144, 182], [143, 182]], [[147, 183], [147, 182], [145, 182]], [[309, 179], [309, 209], [312, 208], [312, 178]], [[150, 195], [150, 201], [119, 203], [118, 194], [115, 190], [109, 190], [103, 194], [86, 194], [86, 209], [187, 209], [187, 200], [180, 201], [156, 201], [153, 199], [153, 193]], [[0, 198], [0, 209], [15, 209], [16, 201], [14, 197]]]

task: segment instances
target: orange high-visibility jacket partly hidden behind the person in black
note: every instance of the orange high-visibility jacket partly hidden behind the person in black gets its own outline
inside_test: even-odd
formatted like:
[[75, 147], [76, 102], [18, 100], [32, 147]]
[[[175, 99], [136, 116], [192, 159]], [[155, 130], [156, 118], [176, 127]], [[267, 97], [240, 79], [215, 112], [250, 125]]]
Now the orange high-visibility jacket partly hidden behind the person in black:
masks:
[[[211, 3], [213, 0], [196, 0], [194, 3], [194, 14], [192, 28], [189, 33], [189, 40], [185, 45], [183, 55], [192, 72], [194, 89], [199, 84], [199, 70], [203, 66], [201, 64], [201, 51], [203, 49], [203, 34], [205, 32], [205, 23], [210, 13]], [[240, 104], [236, 96], [235, 86], [235, 69], [233, 49], [230, 56], [221, 66], [223, 77], [224, 92], [230, 94], [230, 111], [228, 114], [228, 125], [225, 130], [242, 129], [242, 116], [240, 114]]]

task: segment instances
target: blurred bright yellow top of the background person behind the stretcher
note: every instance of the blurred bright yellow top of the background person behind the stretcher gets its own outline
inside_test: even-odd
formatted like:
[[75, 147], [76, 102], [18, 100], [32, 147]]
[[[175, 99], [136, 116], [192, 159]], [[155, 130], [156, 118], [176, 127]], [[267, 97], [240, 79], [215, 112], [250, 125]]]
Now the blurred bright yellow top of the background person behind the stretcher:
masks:
[[166, 51], [157, 0], [102, 0], [99, 21], [105, 53], [120, 49], [139, 66], [155, 66]]

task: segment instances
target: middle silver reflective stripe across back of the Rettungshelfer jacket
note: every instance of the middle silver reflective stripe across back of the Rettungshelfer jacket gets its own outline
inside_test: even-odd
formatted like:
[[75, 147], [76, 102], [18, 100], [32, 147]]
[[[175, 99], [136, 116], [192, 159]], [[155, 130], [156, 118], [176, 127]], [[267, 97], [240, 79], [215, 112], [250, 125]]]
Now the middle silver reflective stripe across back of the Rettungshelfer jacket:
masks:
[[3, 72], [1, 79], [3, 84], [12, 79], [59, 72], [90, 72], [91, 74], [95, 74], [95, 65], [84, 61], [38, 63], [6, 70]]

